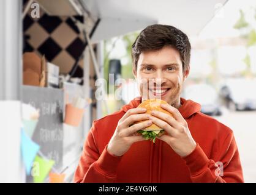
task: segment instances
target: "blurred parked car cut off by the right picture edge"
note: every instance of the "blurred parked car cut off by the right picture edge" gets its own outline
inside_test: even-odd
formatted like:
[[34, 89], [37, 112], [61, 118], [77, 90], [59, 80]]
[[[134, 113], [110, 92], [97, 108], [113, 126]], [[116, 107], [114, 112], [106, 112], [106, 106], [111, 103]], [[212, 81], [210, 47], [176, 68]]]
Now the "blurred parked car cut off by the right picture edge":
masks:
[[229, 79], [220, 96], [230, 110], [256, 110], [256, 79]]

